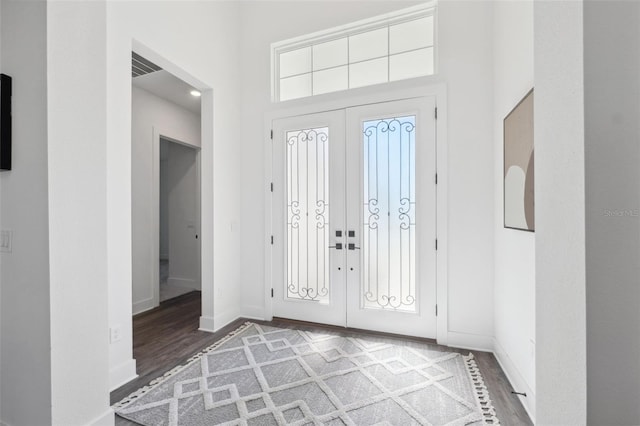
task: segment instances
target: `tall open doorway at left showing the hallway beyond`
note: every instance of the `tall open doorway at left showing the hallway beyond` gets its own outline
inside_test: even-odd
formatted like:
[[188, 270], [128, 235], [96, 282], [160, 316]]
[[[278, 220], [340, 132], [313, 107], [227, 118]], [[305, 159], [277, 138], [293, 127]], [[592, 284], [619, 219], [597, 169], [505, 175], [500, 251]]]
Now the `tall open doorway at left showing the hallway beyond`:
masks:
[[[138, 375], [155, 368], [159, 354], [179, 356], [171, 341], [157, 336], [178, 323], [195, 333], [203, 310], [199, 86], [164, 69], [161, 58], [142, 53], [132, 52], [131, 88], [132, 343]], [[188, 317], [172, 317], [167, 309], [185, 304]]]

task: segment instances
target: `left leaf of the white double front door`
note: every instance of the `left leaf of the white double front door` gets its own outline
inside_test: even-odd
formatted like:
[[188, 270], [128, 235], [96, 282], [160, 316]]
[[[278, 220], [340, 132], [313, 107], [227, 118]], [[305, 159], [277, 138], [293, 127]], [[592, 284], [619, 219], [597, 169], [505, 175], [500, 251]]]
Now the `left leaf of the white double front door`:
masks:
[[344, 114], [273, 123], [274, 316], [346, 323]]

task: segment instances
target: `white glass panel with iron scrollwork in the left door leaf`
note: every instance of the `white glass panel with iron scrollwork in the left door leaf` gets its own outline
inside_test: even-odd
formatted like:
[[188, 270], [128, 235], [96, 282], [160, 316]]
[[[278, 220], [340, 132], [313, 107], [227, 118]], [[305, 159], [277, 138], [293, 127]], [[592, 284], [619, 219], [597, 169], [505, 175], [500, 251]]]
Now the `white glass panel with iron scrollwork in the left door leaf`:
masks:
[[329, 301], [329, 129], [287, 132], [287, 297]]

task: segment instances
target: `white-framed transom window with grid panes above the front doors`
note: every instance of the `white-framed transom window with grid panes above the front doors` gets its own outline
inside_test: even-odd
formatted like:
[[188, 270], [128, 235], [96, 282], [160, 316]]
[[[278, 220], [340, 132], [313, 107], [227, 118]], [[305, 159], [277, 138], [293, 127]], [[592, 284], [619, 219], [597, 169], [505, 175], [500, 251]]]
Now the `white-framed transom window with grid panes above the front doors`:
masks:
[[286, 101], [435, 73], [435, 2], [271, 45]]

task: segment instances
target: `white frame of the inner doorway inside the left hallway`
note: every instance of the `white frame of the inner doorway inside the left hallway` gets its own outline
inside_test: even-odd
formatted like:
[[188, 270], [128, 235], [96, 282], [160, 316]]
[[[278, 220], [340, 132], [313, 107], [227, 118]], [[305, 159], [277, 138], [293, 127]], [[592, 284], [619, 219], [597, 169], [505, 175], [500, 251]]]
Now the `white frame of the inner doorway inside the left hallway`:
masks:
[[[153, 143], [151, 147], [151, 155], [152, 155], [152, 188], [151, 188], [151, 205], [153, 206], [153, 213], [151, 218], [151, 226], [153, 227], [152, 241], [151, 241], [151, 263], [152, 263], [152, 279], [153, 279], [153, 306], [157, 307], [160, 305], [160, 139], [167, 140], [169, 142], [176, 143], [178, 145], [182, 145], [189, 149], [193, 149], [196, 153], [196, 233], [199, 237], [202, 235], [202, 211], [201, 211], [201, 169], [200, 169], [200, 156], [201, 149], [199, 146], [194, 145], [190, 141], [183, 141], [180, 139], [176, 139], [171, 136], [171, 132], [168, 130], [163, 130], [158, 127], [153, 127]], [[198, 271], [196, 274], [196, 280], [198, 282], [199, 287], [202, 289], [202, 238], [198, 238], [197, 244], [197, 261], [198, 261]]]

